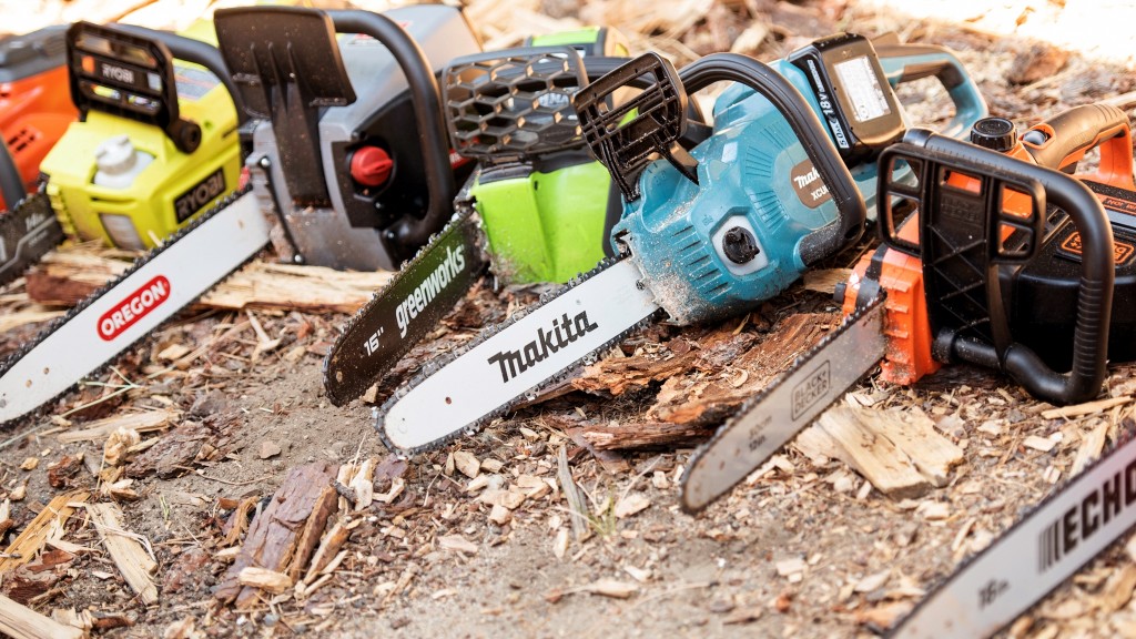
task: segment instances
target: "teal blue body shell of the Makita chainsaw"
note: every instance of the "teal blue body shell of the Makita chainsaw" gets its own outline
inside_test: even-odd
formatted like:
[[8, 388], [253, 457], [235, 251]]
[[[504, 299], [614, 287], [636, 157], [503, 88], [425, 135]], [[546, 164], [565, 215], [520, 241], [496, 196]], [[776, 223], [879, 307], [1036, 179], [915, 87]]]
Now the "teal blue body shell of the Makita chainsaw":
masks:
[[[820, 115], [804, 73], [770, 65]], [[792, 127], [753, 89], [734, 84], [715, 102], [713, 134], [690, 151], [698, 183], [665, 160], [640, 176], [642, 197], [624, 206], [612, 229], [670, 318], [679, 324], [728, 317], [769, 299], [805, 271], [799, 244], [832, 223], [836, 205]], [[875, 208], [875, 163], [849, 167], [868, 210]], [[910, 173], [908, 174], [910, 175]], [[734, 264], [722, 236], [741, 226], [758, 256]]]

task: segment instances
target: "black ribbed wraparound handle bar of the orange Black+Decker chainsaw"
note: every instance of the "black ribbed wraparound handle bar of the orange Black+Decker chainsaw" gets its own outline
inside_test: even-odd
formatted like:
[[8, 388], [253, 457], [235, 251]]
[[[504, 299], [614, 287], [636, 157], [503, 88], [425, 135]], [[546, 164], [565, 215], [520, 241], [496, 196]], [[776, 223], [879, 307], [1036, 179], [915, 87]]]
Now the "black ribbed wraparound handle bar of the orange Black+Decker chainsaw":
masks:
[[[926, 131], [909, 134], [904, 141], [962, 161], [977, 163], [987, 167], [995, 176], [1001, 174], [1036, 180], [1045, 189], [1047, 200], [1063, 209], [1072, 219], [1084, 246], [1072, 370], [1067, 374], [1054, 372], [1036, 352], [1021, 343], [1010, 346], [1002, 354], [1001, 364], [1026, 390], [1047, 401], [1077, 404], [1095, 397], [1108, 372], [1109, 324], [1116, 279], [1112, 225], [1100, 200], [1085, 184], [1063, 173], [979, 149], [967, 142], [928, 134]], [[970, 348], [957, 348], [954, 355], [974, 363], [988, 359], [988, 354], [975, 359], [968, 358], [967, 350]]]

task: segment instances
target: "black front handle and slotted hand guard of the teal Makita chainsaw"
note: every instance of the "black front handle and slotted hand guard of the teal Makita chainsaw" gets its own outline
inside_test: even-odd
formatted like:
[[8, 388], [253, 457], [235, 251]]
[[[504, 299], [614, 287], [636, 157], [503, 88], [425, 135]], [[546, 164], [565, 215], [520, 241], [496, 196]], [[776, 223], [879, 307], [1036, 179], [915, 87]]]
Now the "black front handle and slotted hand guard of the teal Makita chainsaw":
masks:
[[[615, 108], [605, 99], [640, 76], [653, 85]], [[829, 256], [863, 232], [866, 207], [855, 182], [804, 97], [769, 66], [737, 53], [712, 53], [682, 73], [658, 53], [641, 56], [585, 86], [573, 99], [584, 136], [627, 200], [638, 198], [638, 172], [658, 152], [698, 182], [696, 163], [678, 143], [686, 130], [687, 96], [716, 82], [740, 82], [767, 99], [788, 122], [837, 206], [837, 217], [801, 240], [805, 265]], [[624, 117], [637, 111], [635, 118]]]

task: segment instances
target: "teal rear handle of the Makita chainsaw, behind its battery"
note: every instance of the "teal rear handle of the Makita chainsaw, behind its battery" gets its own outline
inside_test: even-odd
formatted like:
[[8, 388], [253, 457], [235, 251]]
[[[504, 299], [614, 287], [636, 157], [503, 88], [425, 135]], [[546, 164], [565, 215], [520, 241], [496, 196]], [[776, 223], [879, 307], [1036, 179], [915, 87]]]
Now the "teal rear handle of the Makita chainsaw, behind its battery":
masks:
[[934, 77], [946, 90], [954, 103], [954, 117], [939, 133], [949, 138], [961, 138], [971, 123], [986, 117], [989, 109], [978, 85], [967, 73], [959, 58], [945, 48], [934, 44], [874, 43], [879, 65], [892, 86]]

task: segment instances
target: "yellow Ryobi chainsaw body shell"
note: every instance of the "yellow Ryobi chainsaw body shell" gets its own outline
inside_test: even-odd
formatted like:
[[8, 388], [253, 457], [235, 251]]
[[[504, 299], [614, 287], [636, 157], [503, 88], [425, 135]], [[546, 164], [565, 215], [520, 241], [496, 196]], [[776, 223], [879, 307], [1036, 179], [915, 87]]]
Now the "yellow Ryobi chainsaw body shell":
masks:
[[[208, 22], [195, 23], [182, 35], [216, 43]], [[145, 250], [237, 188], [241, 149], [232, 97], [202, 66], [177, 60], [174, 72], [178, 108], [201, 127], [200, 146], [183, 152], [153, 124], [92, 108], [84, 121], [67, 128], [41, 165], [48, 176], [47, 194], [65, 231], [107, 246]], [[136, 153], [152, 159], [128, 184], [95, 184], [97, 149], [123, 135]]]

